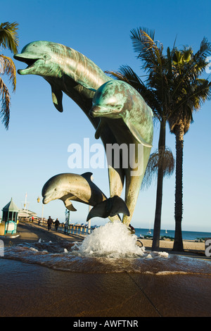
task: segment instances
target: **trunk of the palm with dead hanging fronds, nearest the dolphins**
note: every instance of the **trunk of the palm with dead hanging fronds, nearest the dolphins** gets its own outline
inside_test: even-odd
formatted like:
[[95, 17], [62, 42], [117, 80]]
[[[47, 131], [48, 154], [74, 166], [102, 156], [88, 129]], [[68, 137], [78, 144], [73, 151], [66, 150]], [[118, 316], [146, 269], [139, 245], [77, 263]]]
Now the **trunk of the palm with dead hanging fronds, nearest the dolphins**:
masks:
[[[160, 137], [159, 137], [159, 142], [158, 142], [158, 153], [159, 153], [159, 151], [161, 151], [161, 153], [162, 153], [162, 149], [165, 148], [165, 127], [166, 127], [166, 122], [165, 122], [165, 120], [162, 120], [160, 122]], [[158, 251], [159, 246], [160, 246], [160, 223], [161, 223], [161, 211], [162, 211], [162, 182], [163, 182], [163, 169], [158, 168], [155, 220], [154, 220], [154, 228], [153, 228], [153, 245], [152, 245], [153, 251]]]

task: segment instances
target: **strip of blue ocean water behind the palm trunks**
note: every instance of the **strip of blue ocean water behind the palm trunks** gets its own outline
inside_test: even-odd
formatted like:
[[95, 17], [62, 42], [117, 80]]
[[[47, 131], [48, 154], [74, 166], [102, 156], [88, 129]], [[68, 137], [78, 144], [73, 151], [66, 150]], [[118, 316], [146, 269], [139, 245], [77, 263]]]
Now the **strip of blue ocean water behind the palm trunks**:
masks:
[[[153, 237], [153, 229], [151, 233], [148, 233], [149, 229], [135, 228], [136, 236], [148, 235]], [[160, 237], [167, 236], [174, 238], [174, 230], [160, 230]], [[211, 238], [211, 232], [197, 232], [197, 231], [182, 231], [182, 239], [184, 240], [196, 240], [198, 238]]]

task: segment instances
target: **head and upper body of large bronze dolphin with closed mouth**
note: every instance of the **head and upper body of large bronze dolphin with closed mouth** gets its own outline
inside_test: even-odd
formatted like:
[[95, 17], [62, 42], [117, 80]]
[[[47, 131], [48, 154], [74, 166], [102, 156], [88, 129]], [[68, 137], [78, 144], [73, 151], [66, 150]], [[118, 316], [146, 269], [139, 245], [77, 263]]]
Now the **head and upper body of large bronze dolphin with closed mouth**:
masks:
[[[120, 80], [106, 82], [98, 88], [89, 114], [100, 118], [122, 118], [139, 144], [152, 147], [153, 112], [131, 85]], [[102, 124], [99, 124], [102, 130]]]

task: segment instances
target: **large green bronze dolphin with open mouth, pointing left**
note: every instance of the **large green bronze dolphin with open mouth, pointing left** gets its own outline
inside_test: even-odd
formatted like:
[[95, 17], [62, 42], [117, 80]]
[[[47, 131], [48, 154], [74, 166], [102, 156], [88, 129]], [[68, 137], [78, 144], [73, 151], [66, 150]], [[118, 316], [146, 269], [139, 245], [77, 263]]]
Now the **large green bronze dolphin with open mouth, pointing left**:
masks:
[[[64, 92], [82, 108], [92, 125], [95, 128], [98, 127], [99, 118], [92, 118], [89, 110], [96, 89], [111, 78], [105, 75], [94, 62], [70, 47], [45, 41], [27, 44], [20, 54], [15, 54], [14, 58], [28, 65], [27, 68], [18, 70], [20, 75], [40, 75], [49, 82], [53, 104], [58, 111], [63, 111]], [[105, 120], [100, 135], [105, 149], [106, 144], [117, 142], [110, 130], [109, 122], [109, 119]], [[108, 176], [110, 196], [121, 196], [124, 170], [114, 168], [111, 163], [108, 167]]]

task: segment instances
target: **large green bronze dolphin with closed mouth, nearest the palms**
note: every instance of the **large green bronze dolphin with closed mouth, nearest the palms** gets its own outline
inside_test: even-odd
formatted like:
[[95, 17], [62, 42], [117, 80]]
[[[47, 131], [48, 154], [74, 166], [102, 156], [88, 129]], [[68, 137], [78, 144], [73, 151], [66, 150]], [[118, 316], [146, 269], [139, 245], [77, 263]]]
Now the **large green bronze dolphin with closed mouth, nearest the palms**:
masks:
[[[134, 146], [133, 154], [127, 158], [125, 203], [129, 216], [124, 214], [123, 223], [129, 225], [139, 196], [141, 182], [151, 153], [153, 142], [153, 112], [142, 96], [131, 85], [120, 80], [106, 82], [96, 91], [93, 106], [89, 112], [94, 118], [110, 118], [110, 128], [114, 132], [119, 146]], [[98, 127], [98, 135], [102, 125]], [[139, 146], [142, 147], [142, 159], [139, 159]], [[142, 163], [138, 164], [138, 163]], [[136, 164], [141, 168], [137, 171]], [[138, 168], [137, 167], [137, 168]], [[135, 170], [135, 171], [134, 171]]]

